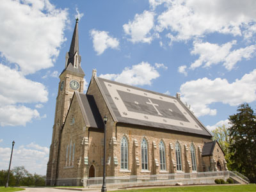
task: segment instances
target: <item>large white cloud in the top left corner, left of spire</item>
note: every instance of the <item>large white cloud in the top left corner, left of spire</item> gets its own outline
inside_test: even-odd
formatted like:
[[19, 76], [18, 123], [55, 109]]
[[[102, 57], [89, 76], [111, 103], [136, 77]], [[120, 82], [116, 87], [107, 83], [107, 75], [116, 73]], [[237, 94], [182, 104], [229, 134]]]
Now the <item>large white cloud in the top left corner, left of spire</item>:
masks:
[[65, 41], [67, 10], [54, 8], [48, 0], [2, 0], [0, 20], [2, 57], [17, 63], [23, 74], [53, 66]]

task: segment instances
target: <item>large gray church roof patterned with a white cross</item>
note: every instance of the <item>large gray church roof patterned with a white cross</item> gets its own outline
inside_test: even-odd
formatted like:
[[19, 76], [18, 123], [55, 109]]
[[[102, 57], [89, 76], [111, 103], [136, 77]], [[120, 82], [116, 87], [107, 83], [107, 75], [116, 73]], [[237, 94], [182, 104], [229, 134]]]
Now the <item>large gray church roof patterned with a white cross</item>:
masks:
[[115, 122], [211, 137], [211, 133], [180, 99], [100, 77], [94, 78]]

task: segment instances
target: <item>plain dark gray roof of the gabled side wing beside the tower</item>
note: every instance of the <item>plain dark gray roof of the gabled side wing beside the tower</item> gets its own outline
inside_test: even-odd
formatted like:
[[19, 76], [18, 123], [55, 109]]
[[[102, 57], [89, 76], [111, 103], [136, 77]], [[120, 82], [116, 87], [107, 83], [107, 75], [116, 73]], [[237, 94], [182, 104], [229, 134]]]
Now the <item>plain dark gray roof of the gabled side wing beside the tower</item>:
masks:
[[95, 103], [93, 95], [86, 95], [83, 93], [75, 92], [77, 100], [81, 108], [86, 127], [93, 127], [104, 129], [104, 123], [100, 116], [99, 109]]

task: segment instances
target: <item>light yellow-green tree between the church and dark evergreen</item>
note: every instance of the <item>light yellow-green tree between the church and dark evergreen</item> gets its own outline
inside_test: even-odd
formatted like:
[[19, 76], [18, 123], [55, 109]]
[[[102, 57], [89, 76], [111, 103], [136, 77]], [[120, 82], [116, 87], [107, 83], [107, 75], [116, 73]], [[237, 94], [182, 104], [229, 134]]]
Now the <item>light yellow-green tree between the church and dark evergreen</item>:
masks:
[[222, 148], [223, 152], [225, 153], [225, 160], [227, 161], [228, 170], [232, 170], [230, 167], [230, 152], [228, 150], [230, 145], [230, 136], [228, 132], [228, 128], [225, 125], [221, 127], [217, 127], [212, 131], [212, 140], [218, 141], [220, 147]]

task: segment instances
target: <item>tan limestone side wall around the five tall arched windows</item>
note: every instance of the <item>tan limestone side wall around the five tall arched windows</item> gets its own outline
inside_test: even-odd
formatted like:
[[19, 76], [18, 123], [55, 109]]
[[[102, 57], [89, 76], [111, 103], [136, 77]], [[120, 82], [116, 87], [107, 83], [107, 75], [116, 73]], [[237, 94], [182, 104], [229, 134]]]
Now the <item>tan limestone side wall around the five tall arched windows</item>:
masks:
[[[136, 125], [117, 126], [116, 129], [116, 157], [118, 165], [115, 166], [117, 175], [143, 175], [159, 173], [176, 173], [175, 144], [178, 141], [181, 149], [182, 172], [192, 172], [191, 167], [191, 143], [195, 146], [196, 170], [203, 171], [202, 147], [204, 142], [211, 140], [198, 137], [182, 135], [173, 132], [161, 132], [160, 129], [141, 129]], [[121, 170], [120, 148], [122, 137], [126, 136], [129, 143], [129, 168]], [[145, 138], [148, 143], [148, 171], [141, 170], [141, 141]], [[165, 145], [166, 170], [160, 170], [159, 143]], [[137, 145], [137, 146], [136, 146]], [[137, 160], [136, 160], [137, 158]], [[138, 161], [139, 159], [139, 161]]]

